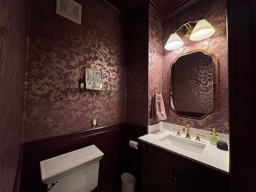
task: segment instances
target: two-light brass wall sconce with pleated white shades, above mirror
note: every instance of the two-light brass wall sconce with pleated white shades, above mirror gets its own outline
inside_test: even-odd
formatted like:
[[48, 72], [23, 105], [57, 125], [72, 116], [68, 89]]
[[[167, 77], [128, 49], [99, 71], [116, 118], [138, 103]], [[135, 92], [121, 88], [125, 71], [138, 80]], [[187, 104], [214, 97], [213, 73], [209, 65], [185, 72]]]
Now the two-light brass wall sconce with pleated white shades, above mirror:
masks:
[[[183, 30], [183, 34], [185, 36], [189, 36], [189, 39], [192, 41], [206, 39], [215, 33], [214, 27], [210, 23], [208, 23], [206, 19], [187, 22], [186, 24], [182, 25], [178, 30], [180, 30], [183, 26], [186, 27]], [[168, 41], [164, 46], [166, 50], [175, 50], [184, 45], [184, 42], [177, 34], [178, 30], [174, 31], [174, 33], [172, 33], [168, 38]]]

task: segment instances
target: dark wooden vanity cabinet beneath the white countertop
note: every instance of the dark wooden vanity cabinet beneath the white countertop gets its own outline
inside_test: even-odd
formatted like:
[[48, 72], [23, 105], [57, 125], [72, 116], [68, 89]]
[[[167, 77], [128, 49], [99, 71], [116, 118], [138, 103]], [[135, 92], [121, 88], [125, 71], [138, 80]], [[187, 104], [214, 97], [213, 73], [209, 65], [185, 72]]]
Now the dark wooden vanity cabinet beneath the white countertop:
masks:
[[144, 142], [142, 190], [145, 192], [228, 192], [229, 176]]

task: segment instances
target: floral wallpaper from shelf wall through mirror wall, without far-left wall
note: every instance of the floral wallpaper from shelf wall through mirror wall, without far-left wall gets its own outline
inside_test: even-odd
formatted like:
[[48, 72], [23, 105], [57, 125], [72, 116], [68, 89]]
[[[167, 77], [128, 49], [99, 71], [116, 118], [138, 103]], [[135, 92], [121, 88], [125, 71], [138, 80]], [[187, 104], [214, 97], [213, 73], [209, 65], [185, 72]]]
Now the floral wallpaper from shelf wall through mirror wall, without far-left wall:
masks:
[[[218, 131], [228, 133], [226, 7], [224, 1], [211, 2], [196, 2], [164, 22], [149, 8], [149, 12], [141, 13], [148, 16], [130, 24], [133, 29], [128, 29], [126, 46], [124, 23], [97, 2], [78, 1], [85, 7], [80, 26], [56, 15], [55, 2], [33, 1], [24, 141], [89, 129], [92, 117], [98, 117], [98, 126], [120, 122], [141, 126], [154, 124], [156, 122], [149, 116], [154, 84], [162, 88], [168, 114], [166, 122], [189, 122], [191, 126], [204, 129], [215, 126]], [[175, 51], [162, 49], [162, 41], [166, 42], [169, 31], [198, 18], [212, 21], [216, 28], [213, 37], [200, 42], [182, 37], [184, 47]], [[145, 29], [147, 40], [142, 38]], [[134, 46], [136, 42], [141, 43]], [[168, 107], [169, 64], [178, 54], [196, 48], [216, 53], [220, 65], [219, 109], [204, 121], [178, 118]], [[79, 69], [85, 66], [102, 70], [104, 86], [109, 83], [114, 92], [66, 90], [67, 85], [77, 86]]]

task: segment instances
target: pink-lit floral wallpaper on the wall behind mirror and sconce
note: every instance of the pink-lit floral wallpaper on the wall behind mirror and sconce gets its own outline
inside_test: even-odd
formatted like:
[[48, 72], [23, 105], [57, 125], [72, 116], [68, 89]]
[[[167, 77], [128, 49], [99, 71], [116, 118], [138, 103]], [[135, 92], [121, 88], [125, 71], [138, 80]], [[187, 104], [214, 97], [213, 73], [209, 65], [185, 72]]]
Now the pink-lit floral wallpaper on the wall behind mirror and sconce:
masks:
[[[178, 31], [178, 35], [184, 41], [184, 46], [173, 51], [163, 48], [162, 60], [162, 89], [165, 102], [167, 120], [165, 122], [186, 125], [207, 130], [216, 128], [216, 132], [229, 134], [228, 117], [228, 54], [227, 54], [227, 36], [226, 36], [226, 0], [198, 1], [192, 6], [178, 12], [174, 16], [163, 21], [162, 40], [167, 41], [170, 32], [177, 30], [182, 24], [188, 21], [195, 21], [206, 18], [216, 32], [214, 36], [201, 41], [190, 41], [188, 37]], [[205, 120], [188, 120], [179, 118], [170, 109], [168, 104], [168, 68], [172, 61], [184, 52], [195, 49], [205, 49], [214, 52], [218, 57], [218, 110], [212, 116]]]

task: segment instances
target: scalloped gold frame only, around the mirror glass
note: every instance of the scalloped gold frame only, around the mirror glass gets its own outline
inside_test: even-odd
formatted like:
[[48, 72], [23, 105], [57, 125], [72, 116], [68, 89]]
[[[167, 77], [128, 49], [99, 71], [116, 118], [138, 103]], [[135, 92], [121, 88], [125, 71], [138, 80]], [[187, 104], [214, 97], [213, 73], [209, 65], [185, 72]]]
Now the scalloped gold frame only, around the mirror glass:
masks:
[[[196, 53], [196, 52], [203, 52], [205, 55], [208, 55], [208, 56], [211, 56], [212, 57], [212, 62], [213, 62], [213, 72], [214, 72], [214, 75], [213, 75], [213, 98], [214, 98], [214, 108], [213, 108], [213, 111], [211, 113], [206, 113], [204, 116], [202, 117], [192, 117], [192, 116], [183, 116], [183, 115], [180, 115], [176, 112], [176, 110], [174, 110], [172, 107], [171, 107], [171, 79], [170, 79], [170, 73], [171, 73], [171, 67], [172, 67], [172, 64], [174, 64], [178, 58], [180, 58], [181, 56], [185, 56], [185, 55], [189, 55], [191, 53]], [[215, 58], [215, 62], [214, 62], [214, 58]], [[214, 67], [215, 65], [215, 67]], [[196, 49], [196, 50], [192, 50], [192, 51], [189, 51], [189, 52], [184, 52], [180, 55], [178, 55], [175, 60], [170, 64], [169, 66], [169, 71], [168, 71], [168, 102], [169, 102], [169, 107], [170, 109], [180, 118], [184, 118], [184, 119], [191, 119], [191, 120], [204, 120], [206, 118], [208, 118], [208, 116], [211, 116], [213, 115], [217, 109], [218, 109], [218, 58], [216, 56], [216, 54], [214, 54], [213, 52], [209, 52], [207, 50], [204, 50], [204, 49]]]

